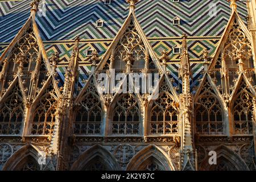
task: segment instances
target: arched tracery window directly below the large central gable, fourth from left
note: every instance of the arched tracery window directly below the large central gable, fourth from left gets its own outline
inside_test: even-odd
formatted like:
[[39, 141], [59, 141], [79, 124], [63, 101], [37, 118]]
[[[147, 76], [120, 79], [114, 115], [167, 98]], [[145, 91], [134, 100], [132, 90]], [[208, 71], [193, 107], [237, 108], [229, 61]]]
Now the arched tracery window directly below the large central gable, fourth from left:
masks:
[[141, 111], [132, 94], [123, 94], [115, 103], [112, 114], [113, 135], [141, 134]]

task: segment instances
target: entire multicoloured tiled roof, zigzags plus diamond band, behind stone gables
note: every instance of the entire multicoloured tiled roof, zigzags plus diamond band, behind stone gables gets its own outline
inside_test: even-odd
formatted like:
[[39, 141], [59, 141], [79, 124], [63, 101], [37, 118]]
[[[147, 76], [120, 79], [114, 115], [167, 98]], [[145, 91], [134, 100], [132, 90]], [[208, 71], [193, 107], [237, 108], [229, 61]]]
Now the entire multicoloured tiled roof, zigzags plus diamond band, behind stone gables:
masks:
[[[38, 16], [40, 36], [43, 39], [48, 56], [60, 53], [57, 68], [60, 85], [63, 85], [65, 71], [70, 60], [76, 36], [80, 36], [80, 86], [87, 78], [90, 64], [86, 61], [86, 51], [97, 49], [104, 55], [113, 38], [125, 22], [129, 13], [126, 0], [112, 0], [105, 5], [104, 0], [45, 0], [46, 16]], [[0, 55], [18, 33], [30, 15], [30, 0], [0, 2]], [[246, 23], [247, 8], [238, 1], [238, 13]], [[204, 48], [213, 55], [218, 41], [230, 16], [229, 2], [226, 0], [140, 0], [136, 15], [144, 33], [156, 55], [165, 49], [170, 53], [168, 69], [175, 78], [174, 86], [181, 82], [177, 78], [179, 55], [172, 53], [174, 46], [181, 45], [180, 36], [188, 35], [188, 50], [193, 72], [192, 88], [198, 85], [203, 64], [201, 53]], [[214, 14], [214, 12], [216, 14]], [[180, 25], [174, 25], [172, 19], [180, 18]], [[103, 27], [96, 27], [98, 19], [104, 20]]]

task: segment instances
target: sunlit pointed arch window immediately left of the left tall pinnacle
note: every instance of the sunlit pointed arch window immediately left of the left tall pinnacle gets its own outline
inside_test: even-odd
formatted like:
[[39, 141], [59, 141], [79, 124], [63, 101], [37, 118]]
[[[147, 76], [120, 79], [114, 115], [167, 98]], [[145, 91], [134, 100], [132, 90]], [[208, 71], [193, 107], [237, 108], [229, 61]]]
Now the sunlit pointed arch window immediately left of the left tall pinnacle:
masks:
[[57, 100], [52, 92], [40, 98], [31, 123], [31, 135], [51, 135], [53, 133]]

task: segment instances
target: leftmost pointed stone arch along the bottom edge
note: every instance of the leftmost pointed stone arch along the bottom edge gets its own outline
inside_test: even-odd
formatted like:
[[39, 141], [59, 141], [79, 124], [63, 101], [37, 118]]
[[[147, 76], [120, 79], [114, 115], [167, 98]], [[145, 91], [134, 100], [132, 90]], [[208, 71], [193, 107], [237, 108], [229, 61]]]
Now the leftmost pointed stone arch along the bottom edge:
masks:
[[34, 168], [35, 170], [40, 170], [38, 166], [38, 159], [42, 156], [40, 152], [41, 151], [34, 145], [27, 144], [14, 152], [14, 154], [6, 161], [2, 170], [19, 171], [22, 170], [24, 165], [28, 162], [32, 162], [36, 165], [34, 166], [36, 167], [36, 169]]

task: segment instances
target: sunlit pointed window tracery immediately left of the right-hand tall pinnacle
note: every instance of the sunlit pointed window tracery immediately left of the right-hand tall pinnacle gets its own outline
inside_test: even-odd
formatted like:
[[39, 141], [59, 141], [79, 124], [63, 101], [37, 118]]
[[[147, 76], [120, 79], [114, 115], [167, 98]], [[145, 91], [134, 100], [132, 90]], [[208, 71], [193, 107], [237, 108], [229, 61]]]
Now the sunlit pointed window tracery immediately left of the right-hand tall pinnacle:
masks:
[[153, 102], [150, 110], [150, 134], [152, 135], [179, 133], [176, 102], [168, 90], [169, 86], [164, 80], [159, 89], [159, 97]]

